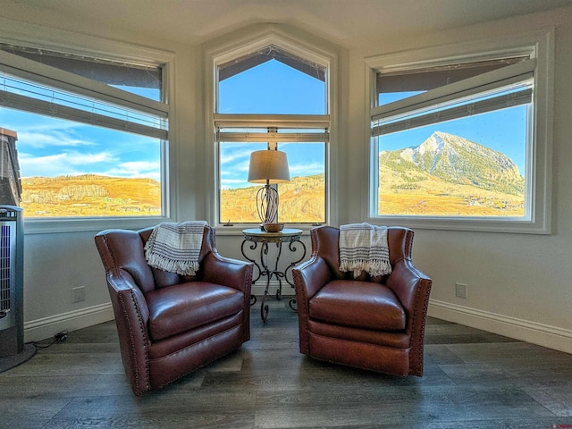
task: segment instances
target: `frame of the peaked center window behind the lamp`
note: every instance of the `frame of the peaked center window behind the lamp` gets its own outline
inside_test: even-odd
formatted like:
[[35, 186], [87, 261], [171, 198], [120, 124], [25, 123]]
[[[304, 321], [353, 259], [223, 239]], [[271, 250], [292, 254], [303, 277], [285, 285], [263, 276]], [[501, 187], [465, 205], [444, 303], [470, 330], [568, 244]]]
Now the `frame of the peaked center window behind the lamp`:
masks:
[[[249, 30], [247, 31], [249, 32]], [[240, 58], [256, 51], [264, 49], [266, 46], [276, 46], [291, 55], [296, 55], [313, 63], [323, 65], [326, 69], [326, 114], [217, 114], [217, 65], [228, 63], [233, 59]], [[252, 125], [254, 128], [260, 126], [273, 126], [273, 122], [282, 126], [291, 126], [293, 123], [299, 122], [302, 126], [308, 127], [313, 123], [322, 125], [324, 122], [329, 123], [328, 135], [329, 141], [325, 143], [325, 223], [331, 223], [332, 219], [337, 217], [333, 207], [335, 207], [335, 196], [332, 195], [332, 189], [335, 184], [332, 183], [332, 145], [335, 145], [335, 116], [336, 116], [336, 82], [337, 77], [337, 55], [331, 50], [324, 49], [318, 45], [312, 44], [302, 38], [293, 37], [288, 31], [277, 29], [273, 25], [265, 25], [263, 29], [255, 30], [242, 38], [234, 38], [231, 42], [223, 43], [215, 40], [211, 45], [205, 46], [205, 76], [206, 76], [206, 166], [213, 165], [212, 171], [206, 171], [206, 212], [209, 222], [217, 227], [218, 231], [224, 234], [239, 235], [240, 231], [245, 228], [252, 228], [259, 223], [222, 223], [219, 222], [219, 198], [220, 198], [220, 161], [219, 147], [216, 139], [217, 122], [224, 122], [225, 125], [240, 125], [248, 128]], [[206, 168], [208, 170], [208, 168]], [[253, 204], [255, 202], [253, 201]], [[309, 230], [315, 226], [314, 223], [289, 223], [290, 227]], [[217, 232], [218, 232], [217, 231]]]

